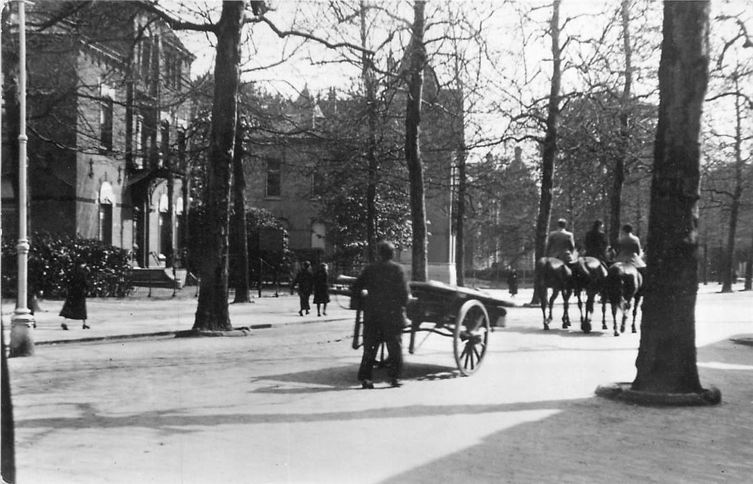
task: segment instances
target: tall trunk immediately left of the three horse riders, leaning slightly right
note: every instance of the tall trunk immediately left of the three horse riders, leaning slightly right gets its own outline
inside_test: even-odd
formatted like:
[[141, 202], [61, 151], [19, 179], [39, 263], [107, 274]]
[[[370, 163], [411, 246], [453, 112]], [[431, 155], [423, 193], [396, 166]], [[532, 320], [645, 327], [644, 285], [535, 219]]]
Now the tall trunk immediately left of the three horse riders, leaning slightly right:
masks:
[[[552, 36], [552, 84], [549, 91], [549, 106], [547, 108], [547, 131], [544, 135], [544, 145], [541, 156], [541, 198], [538, 202], [538, 218], [536, 219], [536, 248], [535, 257], [544, 257], [544, 249], [549, 233], [549, 221], [552, 215], [552, 187], [554, 180], [554, 163], [557, 156], [557, 123], [559, 118], [559, 85], [562, 81], [561, 50], [559, 46], [559, 4], [555, 0], [552, 6], [550, 20], [550, 35]], [[538, 304], [540, 295], [534, 288], [531, 304]]]

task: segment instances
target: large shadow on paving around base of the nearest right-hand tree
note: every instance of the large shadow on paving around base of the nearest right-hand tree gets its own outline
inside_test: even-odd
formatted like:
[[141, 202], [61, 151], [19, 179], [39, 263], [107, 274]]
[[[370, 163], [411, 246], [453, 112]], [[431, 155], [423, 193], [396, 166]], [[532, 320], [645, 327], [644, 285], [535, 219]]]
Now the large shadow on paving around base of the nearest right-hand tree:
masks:
[[[382, 482], [442, 482], [459, 473], [467, 482], [750, 482], [753, 351], [725, 340], [699, 348], [698, 361], [703, 386], [721, 389], [720, 405], [647, 407], [593, 397], [490, 406], [484, 411], [557, 411]], [[748, 367], [711, 364], [724, 361]]]

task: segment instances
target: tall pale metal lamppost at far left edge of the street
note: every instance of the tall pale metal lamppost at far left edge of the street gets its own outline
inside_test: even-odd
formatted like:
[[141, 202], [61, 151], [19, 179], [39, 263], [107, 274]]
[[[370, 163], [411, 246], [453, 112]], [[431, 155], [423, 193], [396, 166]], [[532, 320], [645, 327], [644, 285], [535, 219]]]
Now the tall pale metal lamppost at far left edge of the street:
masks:
[[11, 357], [34, 354], [34, 339], [30, 331], [34, 316], [29, 308], [27, 288], [27, 263], [29, 238], [26, 234], [26, 6], [18, 2], [18, 295], [16, 309], [11, 317]]

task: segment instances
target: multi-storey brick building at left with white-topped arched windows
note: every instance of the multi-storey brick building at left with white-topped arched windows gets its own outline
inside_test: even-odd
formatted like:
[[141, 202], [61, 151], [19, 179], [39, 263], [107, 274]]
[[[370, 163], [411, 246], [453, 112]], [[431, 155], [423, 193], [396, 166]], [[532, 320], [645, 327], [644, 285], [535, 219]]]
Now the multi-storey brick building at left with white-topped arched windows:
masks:
[[[14, 4], [15, 5], [15, 4]], [[15, 7], [12, 7], [15, 8]], [[17, 233], [17, 20], [3, 14], [3, 233]], [[133, 249], [169, 266], [194, 56], [133, 2], [27, 8], [29, 229]]]

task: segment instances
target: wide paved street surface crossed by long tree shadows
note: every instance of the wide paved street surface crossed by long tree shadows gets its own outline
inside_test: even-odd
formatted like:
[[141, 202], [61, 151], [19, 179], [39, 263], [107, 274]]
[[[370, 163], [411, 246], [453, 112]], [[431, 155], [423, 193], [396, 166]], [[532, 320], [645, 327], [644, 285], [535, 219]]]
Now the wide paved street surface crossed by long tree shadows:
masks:
[[[404, 387], [373, 391], [355, 381], [352, 312], [291, 316], [294, 297], [231, 306], [270, 322], [248, 337], [40, 344], [10, 361], [19, 482], [750, 482], [753, 347], [730, 338], [753, 333], [753, 294], [702, 292], [700, 375], [724, 401], [708, 408], [594, 397], [633, 379], [639, 335], [544, 333], [537, 309], [511, 310], [474, 376], [430, 336]], [[195, 309], [116, 303], [112, 328], [123, 312], [172, 324], [178, 304], [187, 329]]]

